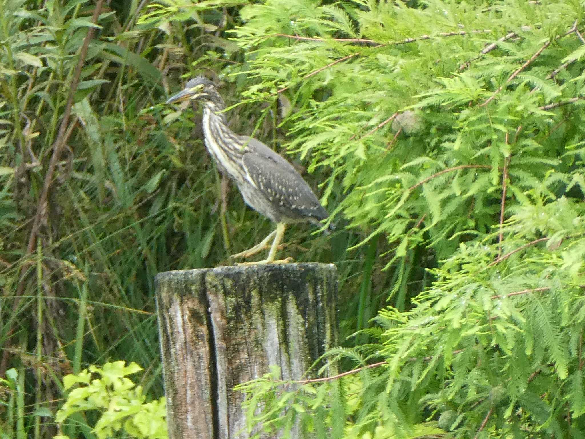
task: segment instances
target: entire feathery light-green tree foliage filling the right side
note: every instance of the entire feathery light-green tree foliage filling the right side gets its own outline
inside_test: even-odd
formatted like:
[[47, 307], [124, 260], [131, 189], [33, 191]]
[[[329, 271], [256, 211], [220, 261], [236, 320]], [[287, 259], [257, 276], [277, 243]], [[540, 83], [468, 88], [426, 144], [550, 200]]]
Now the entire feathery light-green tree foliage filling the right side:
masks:
[[[250, 430], [292, 417], [317, 437], [315, 419], [334, 438], [412, 437], [425, 422], [450, 437], [581, 437], [582, 2], [296, 13], [309, 3], [242, 9], [233, 33], [260, 83], [246, 95], [290, 93], [288, 149], [332, 168], [322, 186], [341, 185], [336, 213], [362, 242], [390, 244], [396, 306], [357, 338], [369, 344], [330, 354], [377, 367], [242, 386]], [[414, 255], [432, 282], [405, 308]]]

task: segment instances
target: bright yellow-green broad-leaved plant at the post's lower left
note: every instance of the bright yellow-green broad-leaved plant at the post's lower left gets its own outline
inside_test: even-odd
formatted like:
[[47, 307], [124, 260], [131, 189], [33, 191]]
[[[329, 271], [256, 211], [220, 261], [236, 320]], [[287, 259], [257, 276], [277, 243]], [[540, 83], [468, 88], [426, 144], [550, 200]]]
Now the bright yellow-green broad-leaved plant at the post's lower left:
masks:
[[[56, 421], [62, 424], [74, 413], [87, 416], [97, 410], [99, 417], [92, 433], [98, 439], [135, 437], [139, 439], [166, 439], [167, 411], [164, 397], [145, 403], [142, 386], [136, 386], [128, 377], [142, 371], [136, 363], [124, 361], [90, 366], [76, 375], [63, 377], [63, 386], [69, 390], [67, 400], [57, 411]], [[100, 378], [94, 378], [98, 375]], [[74, 385], [79, 384], [73, 390]], [[59, 434], [54, 439], [67, 439]]]

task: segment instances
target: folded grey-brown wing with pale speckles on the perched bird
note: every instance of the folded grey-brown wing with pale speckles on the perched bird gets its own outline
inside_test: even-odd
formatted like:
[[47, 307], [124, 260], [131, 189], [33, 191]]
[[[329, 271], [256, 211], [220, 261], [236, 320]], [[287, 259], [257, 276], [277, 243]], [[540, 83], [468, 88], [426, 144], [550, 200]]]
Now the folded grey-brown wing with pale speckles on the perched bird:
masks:
[[[246, 175], [271, 203], [294, 211], [298, 217], [328, 218], [311, 187], [287, 160], [261, 142], [251, 139], [242, 157]], [[260, 148], [261, 146], [261, 148]]]

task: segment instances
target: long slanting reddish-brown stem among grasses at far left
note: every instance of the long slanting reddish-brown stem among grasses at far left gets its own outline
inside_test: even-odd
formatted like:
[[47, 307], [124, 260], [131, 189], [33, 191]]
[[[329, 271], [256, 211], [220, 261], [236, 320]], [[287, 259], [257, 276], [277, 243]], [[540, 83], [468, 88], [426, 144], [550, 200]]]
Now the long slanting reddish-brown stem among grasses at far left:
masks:
[[[97, 4], [95, 5], [94, 15], [91, 18], [92, 23], [97, 24], [99, 12], [102, 9], [102, 4], [104, 0], [98, 0]], [[94, 37], [95, 28], [90, 27], [87, 31], [87, 35], [83, 40], [83, 45], [81, 46], [79, 61], [77, 66], [75, 66], [75, 71], [73, 73], [73, 78], [70, 84], [70, 94], [67, 100], [67, 106], [63, 113], [63, 119], [61, 119], [61, 125], [59, 126], [59, 133], [57, 133], [57, 138], [53, 143], [53, 153], [51, 155], [51, 159], [49, 160], [49, 166], [47, 167], [47, 173], [44, 178], [43, 189], [39, 198], [39, 203], [37, 204], [37, 210], [35, 214], [35, 219], [33, 221], [32, 228], [30, 229], [29, 235], [29, 242], [26, 248], [26, 255], [30, 255], [36, 248], [36, 241], [37, 235], [39, 234], [39, 228], [41, 222], [43, 220], [43, 216], [47, 214], [47, 201], [49, 200], [49, 191], [51, 188], [51, 184], [53, 183], [53, 175], [55, 173], [55, 169], [57, 167], [57, 162], [59, 162], [59, 155], [61, 153], [61, 149], [63, 145], [67, 142], [68, 134], [71, 131], [68, 129], [69, 127], [69, 118], [71, 116], [71, 108], [73, 107], [73, 98], [75, 91], [77, 90], [77, 85], [79, 84], [80, 76], [81, 76], [81, 68], [85, 63], [85, 56], [87, 55], [88, 47], [90, 46], [90, 41]], [[76, 123], [76, 122], [73, 122]], [[19, 282], [18, 286], [16, 287], [16, 296], [15, 301], [12, 306], [13, 313], [18, 311], [18, 307], [20, 305], [20, 299], [22, 299], [22, 293], [25, 287], [25, 277], [26, 277], [26, 267], [28, 266], [25, 263], [19, 270]], [[2, 362], [0, 363], [0, 376], [4, 375], [6, 371], [6, 366], [8, 365], [8, 351], [5, 349], [6, 345], [9, 343], [10, 338], [7, 338], [4, 344], [4, 349], [2, 352]]]

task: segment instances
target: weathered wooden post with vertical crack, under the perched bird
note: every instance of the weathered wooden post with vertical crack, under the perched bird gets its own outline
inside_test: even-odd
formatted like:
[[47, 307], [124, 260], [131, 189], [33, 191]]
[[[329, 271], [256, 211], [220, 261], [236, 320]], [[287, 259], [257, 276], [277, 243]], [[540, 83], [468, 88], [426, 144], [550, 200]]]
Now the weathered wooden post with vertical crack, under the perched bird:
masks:
[[233, 387], [281, 368], [299, 379], [336, 344], [332, 264], [226, 266], [156, 276], [170, 439], [235, 439]]

